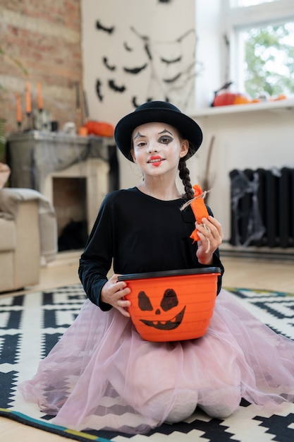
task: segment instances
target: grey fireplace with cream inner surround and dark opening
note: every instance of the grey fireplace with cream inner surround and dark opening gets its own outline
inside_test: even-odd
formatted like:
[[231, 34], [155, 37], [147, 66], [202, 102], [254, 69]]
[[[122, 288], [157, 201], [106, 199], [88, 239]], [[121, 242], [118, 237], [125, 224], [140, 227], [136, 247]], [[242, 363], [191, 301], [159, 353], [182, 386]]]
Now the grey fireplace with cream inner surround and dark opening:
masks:
[[54, 205], [59, 251], [83, 249], [106, 193], [118, 189], [113, 138], [30, 131], [8, 138], [11, 187], [35, 189]]

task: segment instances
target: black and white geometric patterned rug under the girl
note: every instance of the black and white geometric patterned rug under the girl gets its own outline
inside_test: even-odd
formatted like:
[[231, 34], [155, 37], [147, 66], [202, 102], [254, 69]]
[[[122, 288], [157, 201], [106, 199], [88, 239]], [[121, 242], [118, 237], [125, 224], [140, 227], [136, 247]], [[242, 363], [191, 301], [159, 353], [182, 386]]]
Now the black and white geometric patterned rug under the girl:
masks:
[[[234, 288], [228, 291], [277, 333], [294, 339], [294, 294]], [[51, 417], [23, 400], [17, 385], [35, 374], [39, 360], [73, 323], [84, 301], [80, 285], [16, 297], [0, 295], [0, 416], [82, 442], [294, 441], [294, 404], [271, 415], [242, 402], [237, 412], [223, 420], [197, 410], [185, 422], [164, 424], [144, 436], [77, 432], [51, 424]]]

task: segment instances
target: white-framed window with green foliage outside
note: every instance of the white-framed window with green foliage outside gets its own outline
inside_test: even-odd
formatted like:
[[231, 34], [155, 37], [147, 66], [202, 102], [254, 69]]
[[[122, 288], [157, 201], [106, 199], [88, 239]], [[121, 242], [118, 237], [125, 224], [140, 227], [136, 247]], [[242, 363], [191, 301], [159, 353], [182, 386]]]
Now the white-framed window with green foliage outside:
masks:
[[223, 11], [226, 81], [251, 98], [293, 95], [294, 1], [223, 0]]

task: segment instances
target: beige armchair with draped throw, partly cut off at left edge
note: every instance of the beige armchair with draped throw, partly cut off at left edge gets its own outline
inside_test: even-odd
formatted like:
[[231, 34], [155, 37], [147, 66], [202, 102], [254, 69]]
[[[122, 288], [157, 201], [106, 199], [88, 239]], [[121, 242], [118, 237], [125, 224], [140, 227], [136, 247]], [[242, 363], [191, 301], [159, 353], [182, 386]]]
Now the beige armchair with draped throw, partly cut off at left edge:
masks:
[[0, 189], [0, 292], [39, 283], [41, 263], [56, 258], [53, 206], [32, 189]]

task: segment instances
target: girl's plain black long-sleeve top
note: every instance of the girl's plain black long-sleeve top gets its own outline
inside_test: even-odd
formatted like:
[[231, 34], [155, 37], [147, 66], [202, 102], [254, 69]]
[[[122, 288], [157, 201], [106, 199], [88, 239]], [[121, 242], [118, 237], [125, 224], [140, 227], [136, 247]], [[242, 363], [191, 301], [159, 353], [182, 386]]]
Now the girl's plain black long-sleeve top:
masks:
[[[101, 301], [100, 293], [112, 261], [114, 273], [121, 275], [207, 267], [197, 261], [197, 242], [192, 244], [190, 239], [195, 216], [190, 206], [180, 211], [183, 203], [182, 198], [161, 201], [137, 187], [114, 191], [104, 198], [78, 270], [90, 301], [104, 311], [111, 309]], [[212, 265], [223, 274], [219, 250]], [[218, 293], [220, 289], [221, 276]]]

